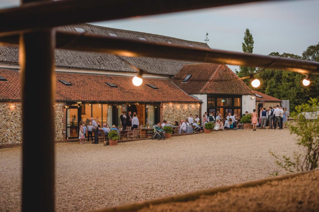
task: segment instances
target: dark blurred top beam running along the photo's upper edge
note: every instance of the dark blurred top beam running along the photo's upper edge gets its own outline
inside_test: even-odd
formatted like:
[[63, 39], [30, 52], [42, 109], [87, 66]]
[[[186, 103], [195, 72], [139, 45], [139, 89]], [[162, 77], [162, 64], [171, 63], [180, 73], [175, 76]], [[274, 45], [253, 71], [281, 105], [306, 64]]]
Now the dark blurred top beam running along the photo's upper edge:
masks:
[[[268, 0], [63, 0], [0, 11], [0, 35], [70, 24], [220, 7]], [[275, 0], [272, 0], [275, 1]], [[278, 1], [278, 0], [277, 0]]]

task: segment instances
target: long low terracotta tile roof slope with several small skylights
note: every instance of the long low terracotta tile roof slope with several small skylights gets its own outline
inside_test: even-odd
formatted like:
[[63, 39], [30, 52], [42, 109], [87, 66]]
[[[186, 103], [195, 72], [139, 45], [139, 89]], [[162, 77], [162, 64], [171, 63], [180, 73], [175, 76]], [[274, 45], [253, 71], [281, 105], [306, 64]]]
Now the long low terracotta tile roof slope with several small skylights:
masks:
[[[0, 81], [0, 100], [20, 100], [21, 83], [18, 70], [0, 70], [8, 81]], [[58, 80], [72, 84], [67, 86]], [[105, 82], [117, 85], [113, 88]], [[146, 84], [158, 87], [153, 89]], [[144, 78], [141, 86], [132, 84], [132, 77], [118, 75], [79, 74], [56, 72], [56, 101], [108, 101], [108, 102], [200, 102], [168, 79]]]

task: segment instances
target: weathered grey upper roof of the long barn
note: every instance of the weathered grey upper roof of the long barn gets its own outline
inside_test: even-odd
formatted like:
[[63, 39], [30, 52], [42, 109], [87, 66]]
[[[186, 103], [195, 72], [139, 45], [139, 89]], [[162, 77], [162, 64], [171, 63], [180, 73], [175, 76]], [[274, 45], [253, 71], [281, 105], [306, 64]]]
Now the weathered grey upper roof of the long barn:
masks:
[[[171, 38], [161, 35], [154, 35], [143, 32], [119, 30], [108, 27], [95, 26], [91, 24], [76, 24], [62, 26], [58, 29], [74, 31], [83, 29], [88, 33], [105, 36], [117, 36], [119, 38], [138, 39], [144, 38], [147, 41], [170, 42], [172, 44], [209, 48], [205, 43], [186, 41], [178, 38]], [[81, 31], [81, 30], [80, 30]], [[18, 63], [18, 47], [0, 46], [0, 62]], [[175, 75], [183, 65], [192, 64], [190, 61], [177, 61], [161, 58], [127, 58], [110, 54], [101, 54], [84, 51], [56, 50], [56, 66], [69, 68], [96, 69], [103, 71], [136, 72], [128, 63], [135, 65], [149, 73]]]

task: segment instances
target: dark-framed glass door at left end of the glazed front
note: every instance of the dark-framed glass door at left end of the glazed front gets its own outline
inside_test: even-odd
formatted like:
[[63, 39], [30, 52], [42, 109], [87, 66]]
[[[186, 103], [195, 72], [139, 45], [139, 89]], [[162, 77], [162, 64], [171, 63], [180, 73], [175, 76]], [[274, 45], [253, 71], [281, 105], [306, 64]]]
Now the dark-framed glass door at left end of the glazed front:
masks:
[[69, 106], [66, 110], [67, 139], [78, 138], [79, 109], [78, 106]]

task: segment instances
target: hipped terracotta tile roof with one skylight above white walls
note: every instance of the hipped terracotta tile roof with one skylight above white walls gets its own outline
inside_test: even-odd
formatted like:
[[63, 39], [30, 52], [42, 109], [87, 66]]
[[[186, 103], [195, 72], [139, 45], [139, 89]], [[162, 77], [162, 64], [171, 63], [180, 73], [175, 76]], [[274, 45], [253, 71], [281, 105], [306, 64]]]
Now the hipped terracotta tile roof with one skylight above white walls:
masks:
[[[192, 77], [188, 82], [182, 82], [187, 75]], [[188, 94], [253, 94], [227, 65], [184, 65], [172, 81]]]

